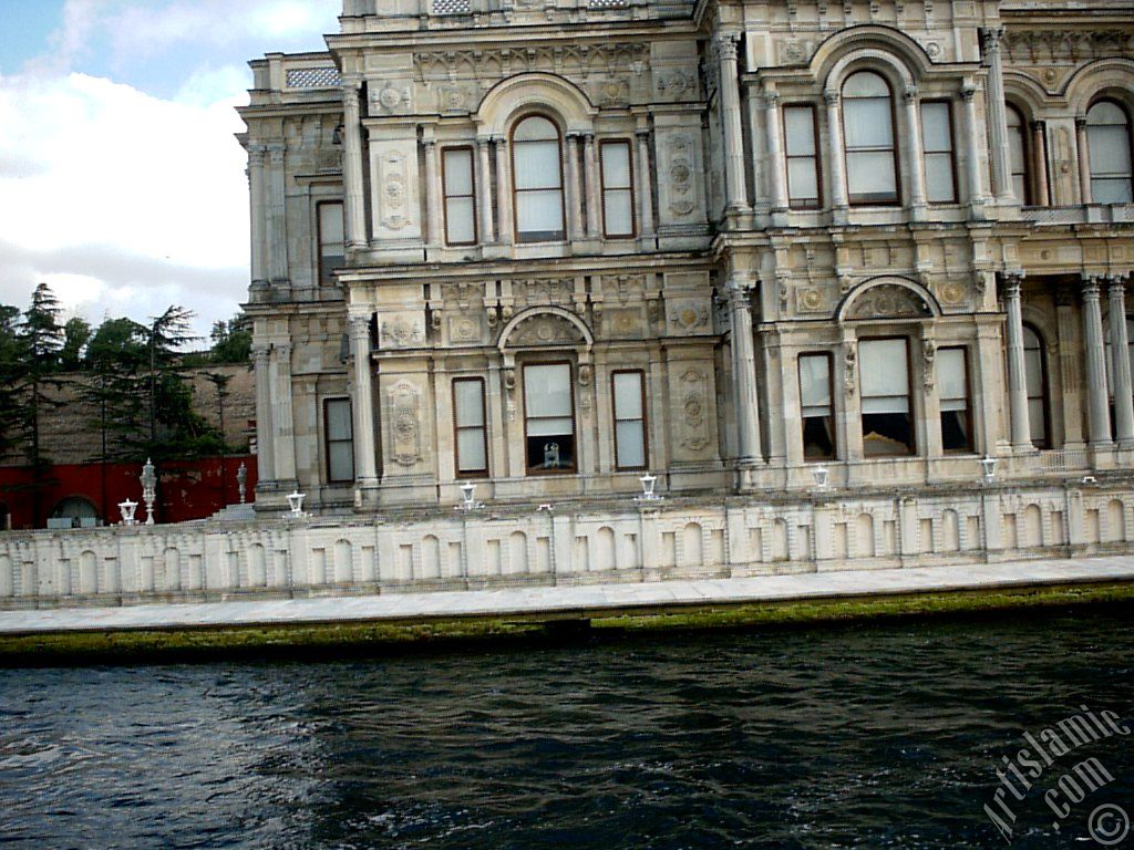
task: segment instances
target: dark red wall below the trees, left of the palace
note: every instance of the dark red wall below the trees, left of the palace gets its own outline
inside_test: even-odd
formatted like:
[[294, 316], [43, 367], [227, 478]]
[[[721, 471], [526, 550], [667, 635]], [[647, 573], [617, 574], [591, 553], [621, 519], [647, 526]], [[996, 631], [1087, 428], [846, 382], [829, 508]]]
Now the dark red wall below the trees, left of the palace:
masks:
[[[248, 470], [246, 484], [247, 501], [253, 500], [256, 486], [256, 458], [235, 456], [225, 458], [225, 474], [221, 475], [220, 458], [170, 462], [159, 469], [158, 503], [154, 507], [158, 522], [183, 522], [189, 519], [210, 517], [226, 504], [240, 501], [236, 471], [244, 464]], [[118, 503], [130, 499], [138, 502], [135, 518], [145, 519], [142, 502], [142, 483], [138, 476], [142, 467], [134, 464], [108, 464], [105, 466], [105, 493], [103, 505], [103, 467], [100, 464], [60, 465], [50, 468], [48, 476], [54, 484], [41, 491], [40, 507], [43, 516], [36, 522], [32, 517], [32, 498], [27, 491], [12, 491], [12, 486], [26, 485], [31, 476], [19, 467], [0, 467], [0, 513], [7, 507], [11, 515], [12, 528], [42, 528], [56, 504], [68, 496], [82, 496], [90, 501], [107, 525], [121, 520]], [[221, 493], [223, 477], [225, 492]]]

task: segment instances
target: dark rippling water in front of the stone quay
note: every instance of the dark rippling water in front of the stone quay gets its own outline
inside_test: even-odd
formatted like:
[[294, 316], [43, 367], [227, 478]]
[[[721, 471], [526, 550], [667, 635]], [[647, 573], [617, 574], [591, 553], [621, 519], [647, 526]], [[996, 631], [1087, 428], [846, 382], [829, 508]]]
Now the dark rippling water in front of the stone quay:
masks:
[[[1009, 847], [983, 806], [1025, 731], [1080, 705], [1134, 728], [1132, 624], [0, 671], [0, 847]], [[1012, 800], [1010, 847], [1100, 845], [1098, 806], [1134, 814], [1132, 740], [1056, 759]], [[1114, 781], [1057, 832], [1043, 792], [1088, 756]]]

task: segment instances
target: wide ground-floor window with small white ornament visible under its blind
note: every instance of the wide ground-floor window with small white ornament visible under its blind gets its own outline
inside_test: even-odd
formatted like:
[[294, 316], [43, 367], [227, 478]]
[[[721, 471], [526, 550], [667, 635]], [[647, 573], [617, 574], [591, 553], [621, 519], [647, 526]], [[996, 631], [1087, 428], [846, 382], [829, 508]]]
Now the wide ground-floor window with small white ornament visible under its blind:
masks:
[[575, 471], [575, 401], [566, 363], [524, 367], [528, 471]]

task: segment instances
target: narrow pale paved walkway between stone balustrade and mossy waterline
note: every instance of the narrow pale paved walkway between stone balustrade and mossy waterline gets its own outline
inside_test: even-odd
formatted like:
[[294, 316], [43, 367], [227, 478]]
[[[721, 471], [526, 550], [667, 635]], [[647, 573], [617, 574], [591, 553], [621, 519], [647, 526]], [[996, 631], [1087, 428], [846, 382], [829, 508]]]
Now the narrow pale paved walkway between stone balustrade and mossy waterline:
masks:
[[796, 576], [649, 581], [569, 587], [516, 587], [99, 609], [0, 612], [0, 635], [179, 629], [213, 626], [448, 619], [818, 600], [869, 594], [979, 590], [999, 587], [1134, 581], [1134, 556], [1010, 561]]

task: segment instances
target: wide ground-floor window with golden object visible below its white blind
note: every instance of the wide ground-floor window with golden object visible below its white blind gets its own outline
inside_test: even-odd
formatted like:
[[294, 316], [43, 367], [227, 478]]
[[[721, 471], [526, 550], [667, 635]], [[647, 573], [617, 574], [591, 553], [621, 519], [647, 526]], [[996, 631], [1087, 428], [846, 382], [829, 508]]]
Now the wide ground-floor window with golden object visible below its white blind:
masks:
[[862, 450], [868, 458], [912, 454], [909, 355], [905, 339], [864, 340], [858, 345], [862, 382]]

